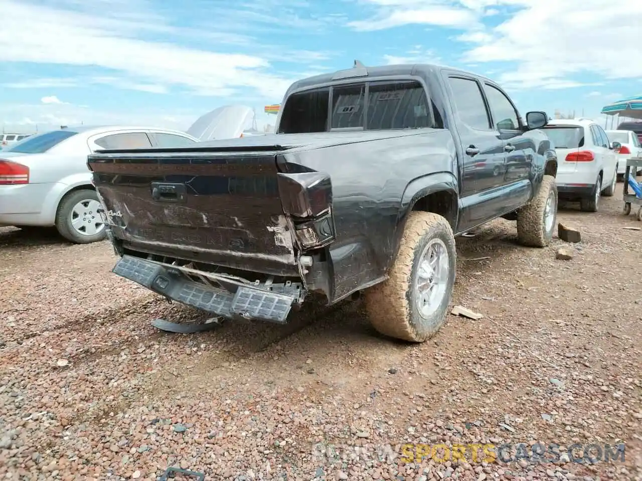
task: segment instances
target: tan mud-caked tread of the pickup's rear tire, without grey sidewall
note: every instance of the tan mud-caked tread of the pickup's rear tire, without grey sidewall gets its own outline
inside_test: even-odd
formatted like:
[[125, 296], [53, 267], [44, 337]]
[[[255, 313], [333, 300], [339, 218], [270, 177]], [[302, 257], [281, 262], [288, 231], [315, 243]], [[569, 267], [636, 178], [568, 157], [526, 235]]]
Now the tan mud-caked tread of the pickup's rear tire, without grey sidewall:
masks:
[[[448, 221], [431, 212], [410, 212], [399, 252], [388, 273], [388, 279], [364, 292], [365, 305], [370, 323], [381, 334], [410, 342], [424, 342], [435, 333], [421, 335], [410, 323], [410, 303], [406, 292], [412, 283], [413, 262], [422, 237], [435, 226], [446, 229], [450, 234], [453, 248], [455, 239]], [[451, 293], [449, 293], [450, 300]]]

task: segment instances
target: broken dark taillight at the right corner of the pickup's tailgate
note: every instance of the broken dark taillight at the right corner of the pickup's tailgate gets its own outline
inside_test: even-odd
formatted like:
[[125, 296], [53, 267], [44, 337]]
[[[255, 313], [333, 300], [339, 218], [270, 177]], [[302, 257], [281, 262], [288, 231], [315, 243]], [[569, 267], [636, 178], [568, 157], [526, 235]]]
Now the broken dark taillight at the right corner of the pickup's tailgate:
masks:
[[279, 173], [279, 194], [303, 249], [324, 247], [334, 241], [332, 183], [328, 174]]

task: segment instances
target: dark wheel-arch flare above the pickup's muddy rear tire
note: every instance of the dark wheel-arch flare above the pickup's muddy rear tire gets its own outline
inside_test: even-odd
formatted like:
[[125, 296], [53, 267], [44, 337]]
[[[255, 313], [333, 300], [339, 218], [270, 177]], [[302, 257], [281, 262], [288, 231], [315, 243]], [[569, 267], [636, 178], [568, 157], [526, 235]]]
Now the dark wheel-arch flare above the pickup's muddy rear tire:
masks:
[[[399, 219], [397, 220], [397, 229], [394, 235], [394, 256], [391, 264], [394, 262], [394, 257], [396, 257], [397, 251], [399, 250], [399, 244], [403, 237], [408, 214], [413, 210], [413, 207], [415, 207], [415, 204], [417, 204], [419, 200], [436, 192], [448, 192], [451, 195], [452, 202], [448, 208], [450, 215], [447, 215], [448, 218], [446, 220], [451, 225], [451, 228], [453, 228], [453, 232], [456, 232], [459, 215], [459, 194], [456, 177], [450, 172], [438, 172], [418, 177], [408, 183], [401, 197]], [[435, 213], [441, 214], [440, 212]]]

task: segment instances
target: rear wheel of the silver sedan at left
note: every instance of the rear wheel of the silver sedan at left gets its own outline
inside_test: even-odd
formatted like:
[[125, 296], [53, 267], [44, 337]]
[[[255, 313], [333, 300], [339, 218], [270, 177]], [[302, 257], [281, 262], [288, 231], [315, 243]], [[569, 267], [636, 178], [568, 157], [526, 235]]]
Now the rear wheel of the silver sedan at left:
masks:
[[102, 241], [107, 236], [105, 224], [98, 214], [100, 201], [94, 190], [70, 192], [58, 206], [56, 229], [67, 241], [89, 244]]

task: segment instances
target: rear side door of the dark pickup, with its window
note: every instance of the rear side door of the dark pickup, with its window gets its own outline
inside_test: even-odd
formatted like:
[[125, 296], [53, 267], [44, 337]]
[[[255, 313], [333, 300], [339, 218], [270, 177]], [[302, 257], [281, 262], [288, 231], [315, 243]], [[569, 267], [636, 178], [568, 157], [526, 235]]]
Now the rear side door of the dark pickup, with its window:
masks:
[[460, 182], [464, 231], [503, 214], [501, 201], [506, 153], [499, 131], [492, 126], [482, 84], [473, 76], [444, 72], [455, 112], [456, 130], [464, 155]]

